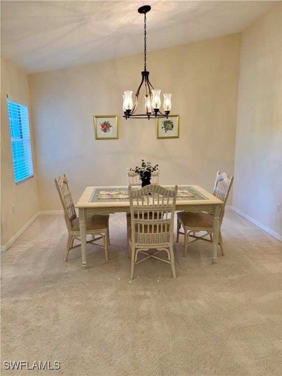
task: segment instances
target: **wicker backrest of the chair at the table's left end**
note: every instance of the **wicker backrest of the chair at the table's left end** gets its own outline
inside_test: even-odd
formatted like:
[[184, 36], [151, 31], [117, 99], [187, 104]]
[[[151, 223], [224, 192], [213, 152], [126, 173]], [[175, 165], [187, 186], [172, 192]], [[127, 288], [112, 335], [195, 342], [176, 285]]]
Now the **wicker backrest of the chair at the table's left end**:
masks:
[[77, 218], [66, 174], [55, 179], [55, 184], [64, 209], [64, 217], [68, 230], [71, 230], [71, 221]]

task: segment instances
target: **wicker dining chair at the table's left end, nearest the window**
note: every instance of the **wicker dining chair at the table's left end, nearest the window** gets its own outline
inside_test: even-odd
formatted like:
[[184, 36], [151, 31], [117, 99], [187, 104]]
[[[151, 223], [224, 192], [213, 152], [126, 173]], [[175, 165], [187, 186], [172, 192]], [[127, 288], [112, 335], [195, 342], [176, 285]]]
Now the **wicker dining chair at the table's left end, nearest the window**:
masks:
[[[59, 176], [58, 179], [55, 179], [55, 184], [64, 209], [64, 217], [68, 229], [67, 249], [64, 257], [64, 261], [67, 261], [70, 250], [80, 247], [80, 244], [73, 246], [74, 239], [80, 240], [79, 218], [77, 218], [74, 209], [67, 176], [65, 174]], [[108, 245], [110, 245], [109, 215], [95, 214], [92, 217], [87, 218], [86, 235], [93, 236], [93, 239], [87, 241], [87, 243], [105, 249], [105, 257], [108, 261]], [[96, 235], [99, 236], [96, 237]], [[103, 239], [104, 245], [95, 243], [95, 241], [99, 239]]]

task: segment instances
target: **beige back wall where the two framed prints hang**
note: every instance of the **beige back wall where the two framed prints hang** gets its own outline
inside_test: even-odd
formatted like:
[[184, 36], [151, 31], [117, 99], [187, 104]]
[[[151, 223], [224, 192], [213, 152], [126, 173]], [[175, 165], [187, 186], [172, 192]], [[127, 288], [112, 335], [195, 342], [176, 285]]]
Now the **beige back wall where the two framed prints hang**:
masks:
[[[180, 115], [171, 140], [157, 140], [155, 120], [122, 118], [142, 55], [29, 76], [41, 210], [61, 209], [54, 178], [64, 172], [74, 200], [86, 186], [125, 185], [125, 168], [141, 158], [160, 164], [161, 184], [211, 190], [217, 170], [233, 174], [239, 50], [235, 34], [148, 53], [152, 84], [172, 93]], [[96, 141], [94, 115], [118, 115], [119, 140]]]

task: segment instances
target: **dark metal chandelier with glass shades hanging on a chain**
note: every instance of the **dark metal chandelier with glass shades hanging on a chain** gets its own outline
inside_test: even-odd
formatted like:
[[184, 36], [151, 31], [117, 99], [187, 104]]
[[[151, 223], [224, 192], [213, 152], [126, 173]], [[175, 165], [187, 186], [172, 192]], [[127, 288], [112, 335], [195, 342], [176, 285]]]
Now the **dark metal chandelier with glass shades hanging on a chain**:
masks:
[[[154, 89], [149, 81], [149, 72], [146, 70], [146, 13], [151, 10], [150, 5], [141, 6], [138, 12], [144, 15], [144, 71], [141, 72], [142, 79], [137, 92], [135, 94], [135, 100], [133, 103], [131, 91], [126, 91], [122, 95], [123, 97], [123, 118], [136, 118], [136, 119], [150, 119], [150, 118], [167, 118], [171, 109], [171, 94], [164, 94], [164, 113], [160, 111], [161, 107], [161, 90]], [[145, 86], [145, 113], [136, 115], [135, 112], [138, 106], [138, 99], [141, 86]]]

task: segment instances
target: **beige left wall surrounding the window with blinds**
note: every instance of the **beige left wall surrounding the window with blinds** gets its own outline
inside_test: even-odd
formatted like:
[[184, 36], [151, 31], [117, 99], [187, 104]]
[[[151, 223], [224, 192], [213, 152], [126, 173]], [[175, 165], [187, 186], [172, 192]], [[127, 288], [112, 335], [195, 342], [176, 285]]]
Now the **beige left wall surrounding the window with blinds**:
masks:
[[[27, 75], [13, 64], [1, 60], [1, 245], [7, 244], [39, 210], [36, 178], [15, 184], [7, 94], [11, 100], [27, 105], [30, 114]], [[32, 136], [31, 124], [30, 128]], [[13, 204], [16, 208], [14, 214]]]

